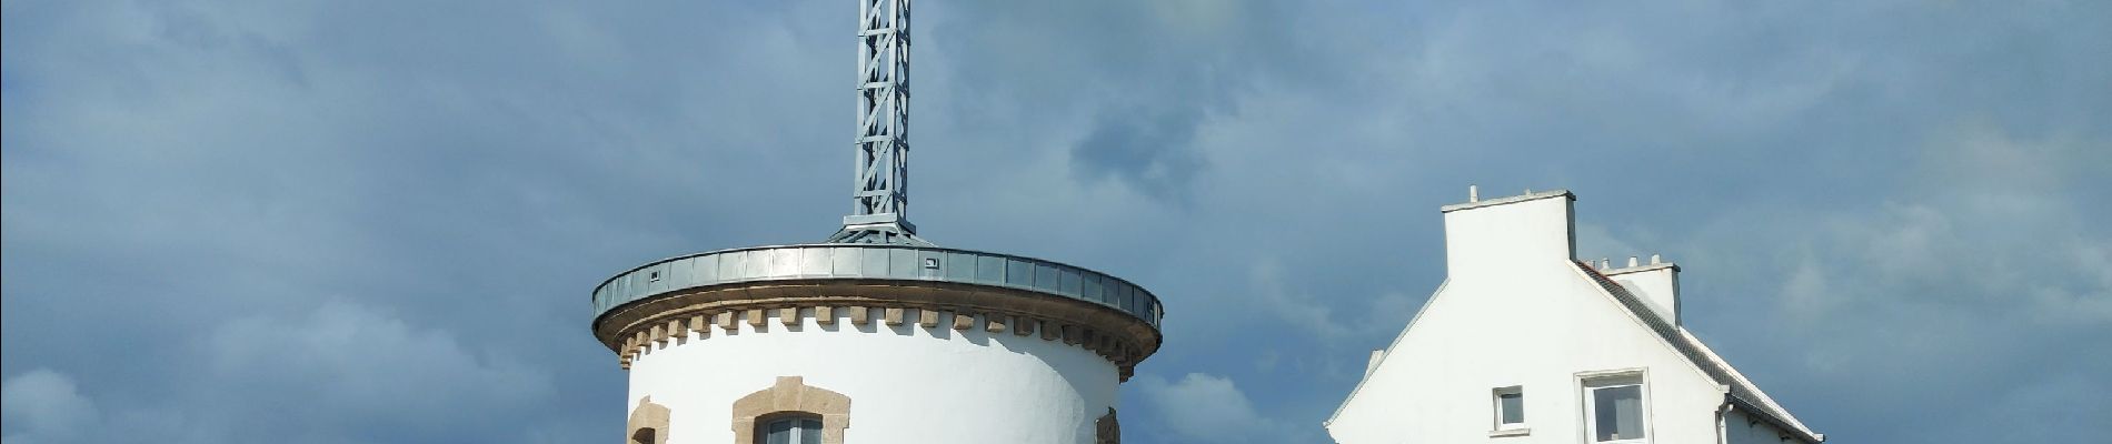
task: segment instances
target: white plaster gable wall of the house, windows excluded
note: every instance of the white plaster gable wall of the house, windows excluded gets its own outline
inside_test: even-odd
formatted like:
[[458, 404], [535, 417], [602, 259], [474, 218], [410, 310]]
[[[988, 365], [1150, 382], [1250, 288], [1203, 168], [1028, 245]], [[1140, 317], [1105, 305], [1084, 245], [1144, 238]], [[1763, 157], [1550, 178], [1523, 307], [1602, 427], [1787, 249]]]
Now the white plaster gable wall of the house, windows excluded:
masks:
[[[1569, 200], [1447, 213], [1447, 282], [1328, 423], [1341, 444], [1588, 442], [1578, 372], [1645, 370], [1656, 444], [1717, 442], [1721, 391], [1569, 263]], [[1523, 385], [1529, 436], [1489, 438]]]

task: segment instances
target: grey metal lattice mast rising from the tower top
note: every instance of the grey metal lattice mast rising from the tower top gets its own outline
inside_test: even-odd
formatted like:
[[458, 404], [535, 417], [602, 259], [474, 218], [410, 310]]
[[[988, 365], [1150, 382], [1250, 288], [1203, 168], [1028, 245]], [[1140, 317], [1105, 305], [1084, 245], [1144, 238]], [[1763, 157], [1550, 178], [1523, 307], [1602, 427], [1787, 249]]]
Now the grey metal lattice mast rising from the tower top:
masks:
[[857, 187], [830, 242], [929, 244], [908, 221], [910, 0], [860, 0]]

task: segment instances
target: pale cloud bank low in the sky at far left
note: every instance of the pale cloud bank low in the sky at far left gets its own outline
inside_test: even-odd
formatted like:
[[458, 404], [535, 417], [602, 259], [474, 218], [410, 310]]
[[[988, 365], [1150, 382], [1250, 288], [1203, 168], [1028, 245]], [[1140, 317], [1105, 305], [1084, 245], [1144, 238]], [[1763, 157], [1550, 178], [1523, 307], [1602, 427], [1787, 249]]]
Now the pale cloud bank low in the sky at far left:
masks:
[[[251, 316], [207, 335], [203, 362], [158, 368], [182, 387], [167, 398], [95, 402], [76, 379], [30, 370], [6, 379], [6, 442], [397, 442], [422, 438], [577, 436], [560, 423], [522, 427], [549, 404], [545, 370], [492, 358], [452, 335], [416, 328], [357, 303], [296, 316]], [[205, 366], [194, 366], [205, 364]], [[258, 421], [268, 419], [268, 421]]]

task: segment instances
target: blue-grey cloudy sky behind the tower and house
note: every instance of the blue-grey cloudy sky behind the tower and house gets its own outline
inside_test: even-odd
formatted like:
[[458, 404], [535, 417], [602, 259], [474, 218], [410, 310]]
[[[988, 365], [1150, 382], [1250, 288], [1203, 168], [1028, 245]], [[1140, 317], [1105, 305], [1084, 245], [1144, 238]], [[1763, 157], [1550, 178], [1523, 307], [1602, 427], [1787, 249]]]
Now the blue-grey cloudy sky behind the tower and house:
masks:
[[[589, 290], [836, 229], [855, 11], [4, 0], [0, 436], [612, 440]], [[2112, 436], [2112, 2], [914, 13], [921, 236], [1168, 307], [1126, 442], [1328, 442], [1468, 185], [1831, 442]]]

